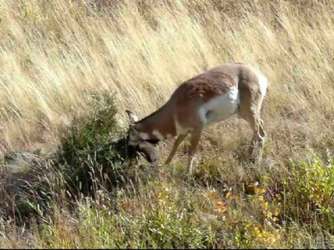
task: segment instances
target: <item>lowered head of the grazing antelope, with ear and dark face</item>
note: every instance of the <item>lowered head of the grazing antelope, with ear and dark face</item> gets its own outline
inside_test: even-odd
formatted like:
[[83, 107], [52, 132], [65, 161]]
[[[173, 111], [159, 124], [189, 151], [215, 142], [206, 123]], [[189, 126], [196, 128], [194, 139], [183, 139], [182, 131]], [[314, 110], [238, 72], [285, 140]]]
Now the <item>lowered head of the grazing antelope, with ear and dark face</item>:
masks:
[[159, 142], [157, 139], [152, 139], [148, 133], [141, 132], [141, 124], [138, 122], [138, 117], [130, 110], [125, 110], [129, 116], [129, 131], [127, 132], [127, 149], [130, 156], [135, 156], [136, 153], [141, 153], [149, 163], [154, 163], [158, 160], [158, 152], [155, 147]]

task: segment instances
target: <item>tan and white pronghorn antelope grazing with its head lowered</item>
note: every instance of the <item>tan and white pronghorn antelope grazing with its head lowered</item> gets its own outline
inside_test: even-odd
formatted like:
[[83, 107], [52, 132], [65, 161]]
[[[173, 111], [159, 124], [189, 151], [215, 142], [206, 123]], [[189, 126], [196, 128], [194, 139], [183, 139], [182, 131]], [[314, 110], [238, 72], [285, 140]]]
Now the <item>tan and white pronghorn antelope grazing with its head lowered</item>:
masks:
[[149, 162], [154, 162], [158, 158], [154, 145], [178, 135], [166, 160], [168, 164], [180, 143], [190, 134], [188, 169], [191, 173], [202, 131], [237, 113], [253, 129], [252, 157], [255, 157], [258, 142], [257, 157], [261, 159], [266, 133], [260, 110], [266, 92], [266, 76], [253, 67], [238, 63], [214, 67], [182, 83], [164, 106], [141, 121], [126, 110], [130, 119], [128, 147], [143, 152]]

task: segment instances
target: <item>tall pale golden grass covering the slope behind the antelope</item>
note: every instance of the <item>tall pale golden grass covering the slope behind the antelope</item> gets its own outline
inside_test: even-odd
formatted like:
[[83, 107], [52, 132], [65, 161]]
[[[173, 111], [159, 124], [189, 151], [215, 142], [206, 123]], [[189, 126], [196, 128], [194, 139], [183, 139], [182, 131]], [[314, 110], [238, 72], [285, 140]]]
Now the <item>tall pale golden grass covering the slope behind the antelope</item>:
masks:
[[269, 123], [308, 119], [321, 138], [317, 125], [333, 121], [333, 8], [332, 1], [1, 1], [1, 150], [53, 141], [58, 126], [84, 112], [91, 90], [113, 90], [122, 108], [144, 116], [182, 81], [232, 61], [268, 76]]

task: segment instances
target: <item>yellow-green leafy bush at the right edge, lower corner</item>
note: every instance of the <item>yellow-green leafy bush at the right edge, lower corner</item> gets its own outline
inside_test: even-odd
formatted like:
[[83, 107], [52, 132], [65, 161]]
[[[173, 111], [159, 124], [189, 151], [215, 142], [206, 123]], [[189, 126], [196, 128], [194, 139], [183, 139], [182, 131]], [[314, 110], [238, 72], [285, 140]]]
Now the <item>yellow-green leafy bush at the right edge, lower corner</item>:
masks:
[[313, 155], [310, 162], [292, 162], [285, 181], [285, 214], [301, 223], [334, 229], [334, 159], [325, 164]]

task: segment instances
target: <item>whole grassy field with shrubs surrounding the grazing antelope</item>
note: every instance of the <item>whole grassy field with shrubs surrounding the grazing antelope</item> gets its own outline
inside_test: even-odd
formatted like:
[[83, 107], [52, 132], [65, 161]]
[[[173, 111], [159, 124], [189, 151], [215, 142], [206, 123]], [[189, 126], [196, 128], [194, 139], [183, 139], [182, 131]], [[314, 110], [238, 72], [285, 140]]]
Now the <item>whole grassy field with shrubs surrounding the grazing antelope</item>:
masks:
[[[269, 80], [261, 163], [238, 117], [191, 177], [187, 141], [159, 168], [99, 153], [228, 62]], [[1, 248], [334, 247], [331, 0], [0, 0], [0, 90]]]

